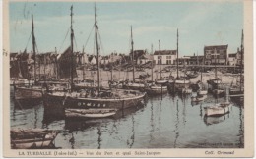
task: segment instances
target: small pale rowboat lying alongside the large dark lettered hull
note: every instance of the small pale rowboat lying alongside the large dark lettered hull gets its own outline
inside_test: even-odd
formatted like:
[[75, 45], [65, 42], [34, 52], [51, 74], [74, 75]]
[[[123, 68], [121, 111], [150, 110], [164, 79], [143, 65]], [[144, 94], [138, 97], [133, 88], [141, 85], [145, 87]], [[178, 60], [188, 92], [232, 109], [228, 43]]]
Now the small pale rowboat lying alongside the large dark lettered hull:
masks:
[[117, 109], [65, 109], [66, 117], [77, 118], [106, 118], [115, 115]]

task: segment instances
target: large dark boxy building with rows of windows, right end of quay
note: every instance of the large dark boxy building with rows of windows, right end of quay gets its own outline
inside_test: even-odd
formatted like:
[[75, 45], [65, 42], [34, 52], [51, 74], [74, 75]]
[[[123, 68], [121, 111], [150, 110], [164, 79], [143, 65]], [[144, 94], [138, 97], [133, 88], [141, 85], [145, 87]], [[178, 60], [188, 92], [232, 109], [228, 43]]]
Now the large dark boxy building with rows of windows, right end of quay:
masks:
[[228, 45], [213, 45], [204, 47], [206, 65], [226, 65]]

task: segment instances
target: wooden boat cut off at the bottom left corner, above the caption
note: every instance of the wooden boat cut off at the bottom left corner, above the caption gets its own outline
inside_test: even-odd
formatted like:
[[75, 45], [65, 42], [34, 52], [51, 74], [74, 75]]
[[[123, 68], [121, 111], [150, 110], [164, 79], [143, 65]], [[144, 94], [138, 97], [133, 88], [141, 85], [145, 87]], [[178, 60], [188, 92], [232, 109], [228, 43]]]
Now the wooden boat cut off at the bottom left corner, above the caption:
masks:
[[57, 136], [57, 131], [30, 129], [30, 130], [11, 130], [12, 149], [35, 149], [50, 148], [53, 140]]

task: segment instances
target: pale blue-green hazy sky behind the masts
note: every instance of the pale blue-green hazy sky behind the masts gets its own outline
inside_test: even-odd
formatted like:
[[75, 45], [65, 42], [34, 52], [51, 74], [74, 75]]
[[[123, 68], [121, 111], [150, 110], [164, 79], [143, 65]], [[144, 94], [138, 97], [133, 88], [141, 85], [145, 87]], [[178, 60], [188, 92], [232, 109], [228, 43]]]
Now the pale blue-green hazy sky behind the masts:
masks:
[[[73, 4], [75, 51], [94, 51], [94, 2], [11, 2], [12, 52], [32, 50], [32, 18], [39, 52], [62, 53], [70, 45], [70, 7]], [[240, 2], [97, 2], [101, 54], [128, 53], [133, 27], [134, 49], [176, 49], [179, 29], [181, 55], [203, 54], [204, 45], [228, 44], [235, 52], [241, 43], [243, 4]], [[69, 32], [70, 33], [70, 32]], [[91, 35], [90, 35], [91, 34]], [[66, 36], [67, 35], [67, 36]], [[65, 38], [66, 37], [66, 38]], [[63, 42], [64, 41], [64, 42]], [[88, 41], [88, 42], [87, 42]], [[96, 54], [96, 53], [95, 53]]]

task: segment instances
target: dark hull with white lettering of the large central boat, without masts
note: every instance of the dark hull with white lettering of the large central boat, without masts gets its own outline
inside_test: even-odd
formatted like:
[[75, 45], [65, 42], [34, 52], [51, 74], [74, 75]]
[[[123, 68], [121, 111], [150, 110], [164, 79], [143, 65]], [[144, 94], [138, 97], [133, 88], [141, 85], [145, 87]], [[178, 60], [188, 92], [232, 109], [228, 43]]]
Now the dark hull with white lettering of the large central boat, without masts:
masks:
[[78, 92], [53, 92], [45, 94], [45, 102], [49, 106], [62, 103], [64, 109], [124, 109], [143, 104], [145, 94], [136, 90], [116, 90], [106, 91], [101, 97], [86, 97]]

